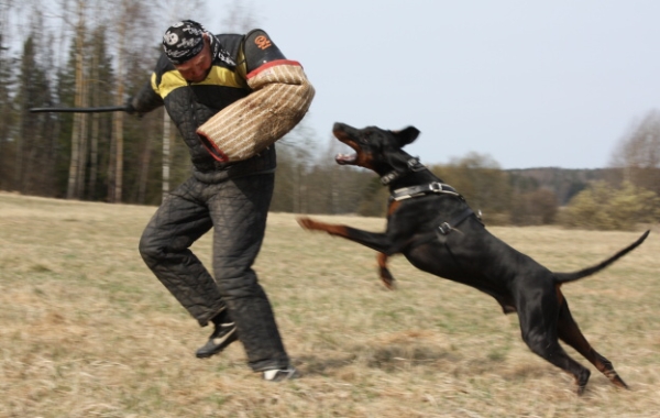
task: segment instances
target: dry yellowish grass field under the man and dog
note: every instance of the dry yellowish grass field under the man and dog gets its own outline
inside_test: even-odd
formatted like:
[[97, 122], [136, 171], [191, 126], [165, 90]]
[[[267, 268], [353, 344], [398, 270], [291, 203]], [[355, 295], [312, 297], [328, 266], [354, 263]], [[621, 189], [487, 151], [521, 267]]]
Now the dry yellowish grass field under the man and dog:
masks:
[[[210, 329], [136, 250], [153, 211], [0, 194], [0, 417], [660, 417], [657, 228], [614, 266], [563, 287], [586, 338], [631, 388], [569, 349], [593, 372], [578, 397], [488, 296], [400, 256], [388, 292], [372, 251], [283, 213], [271, 215], [255, 268], [302, 377], [261, 381], [240, 343], [198, 360]], [[556, 271], [598, 262], [639, 234], [491, 230]], [[209, 239], [195, 248], [209, 265]]]

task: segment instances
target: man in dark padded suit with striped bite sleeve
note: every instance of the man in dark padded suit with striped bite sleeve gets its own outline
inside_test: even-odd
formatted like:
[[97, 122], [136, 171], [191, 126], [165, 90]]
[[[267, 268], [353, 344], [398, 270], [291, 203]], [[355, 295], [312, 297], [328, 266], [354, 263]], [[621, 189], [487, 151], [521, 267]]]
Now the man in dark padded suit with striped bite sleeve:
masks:
[[[262, 30], [213, 35], [187, 20], [166, 31], [163, 50], [127, 111], [165, 106], [188, 145], [193, 175], [163, 199], [143, 232], [140, 253], [201, 327], [213, 324], [198, 358], [240, 339], [249, 365], [264, 380], [295, 377], [252, 264], [273, 195], [272, 143], [302, 118], [314, 88], [300, 65], [287, 61]], [[283, 72], [295, 74], [296, 81], [284, 80]], [[286, 94], [294, 88], [296, 97]], [[287, 112], [279, 111], [283, 102]], [[277, 132], [268, 133], [274, 125]], [[232, 142], [248, 144], [243, 150], [249, 151], [229, 155]], [[215, 279], [189, 250], [211, 228]]]

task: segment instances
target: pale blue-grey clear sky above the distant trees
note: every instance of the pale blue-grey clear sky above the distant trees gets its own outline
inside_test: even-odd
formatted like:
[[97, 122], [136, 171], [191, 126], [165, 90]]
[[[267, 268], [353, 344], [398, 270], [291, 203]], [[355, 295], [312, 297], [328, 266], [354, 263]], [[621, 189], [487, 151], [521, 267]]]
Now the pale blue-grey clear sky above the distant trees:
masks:
[[[223, 32], [231, 0], [199, 18]], [[660, 107], [657, 0], [244, 0], [316, 88], [305, 123], [421, 131], [425, 164], [601, 168]], [[224, 14], [223, 14], [224, 13]], [[185, 18], [185, 16], [184, 16]]]

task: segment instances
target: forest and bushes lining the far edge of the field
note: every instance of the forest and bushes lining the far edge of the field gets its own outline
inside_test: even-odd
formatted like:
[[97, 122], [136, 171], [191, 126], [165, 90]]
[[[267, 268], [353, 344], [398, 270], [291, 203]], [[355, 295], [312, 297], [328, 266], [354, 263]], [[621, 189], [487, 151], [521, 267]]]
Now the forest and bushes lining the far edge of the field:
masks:
[[[228, 13], [235, 31], [252, 19], [239, 4]], [[154, 40], [165, 12], [154, 13], [158, 7], [166, 9], [134, 0], [62, 1], [54, 16], [36, 3], [0, 2], [0, 190], [158, 205], [189, 175], [187, 148], [162, 108], [142, 117], [30, 112], [123, 106], [160, 54]], [[383, 216], [387, 190], [371, 172], [337, 166], [337, 146], [305, 120], [280, 140], [272, 210]], [[429, 168], [491, 224], [629, 229], [660, 220], [660, 112], [641, 116], [612, 155], [603, 169], [505, 170], [476, 150]], [[620, 218], [627, 223], [615, 221]]]

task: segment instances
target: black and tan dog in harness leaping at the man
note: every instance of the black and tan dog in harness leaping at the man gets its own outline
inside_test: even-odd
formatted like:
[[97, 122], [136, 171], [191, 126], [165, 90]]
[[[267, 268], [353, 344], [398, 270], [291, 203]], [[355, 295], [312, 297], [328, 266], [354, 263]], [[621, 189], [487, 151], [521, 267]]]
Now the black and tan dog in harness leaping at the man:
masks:
[[372, 169], [389, 187], [386, 231], [367, 232], [307, 217], [298, 219], [302, 228], [324, 231], [377, 251], [381, 279], [391, 289], [394, 277], [387, 268], [387, 258], [402, 253], [424, 272], [493, 296], [505, 314], [518, 314], [522, 340], [532, 352], [575, 377], [578, 394], [584, 392], [591, 372], [571, 359], [559, 340], [574, 348], [613, 384], [628, 387], [612, 363], [586, 341], [560, 287], [614, 263], [640, 245], [649, 231], [597, 265], [574, 273], [554, 273], [491, 234], [455, 189], [402, 150], [419, 135], [416, 128], [388, 131], [336, 123], [333, 134], [355, 151], [352, 155], [338, 155], [338, 164]]

